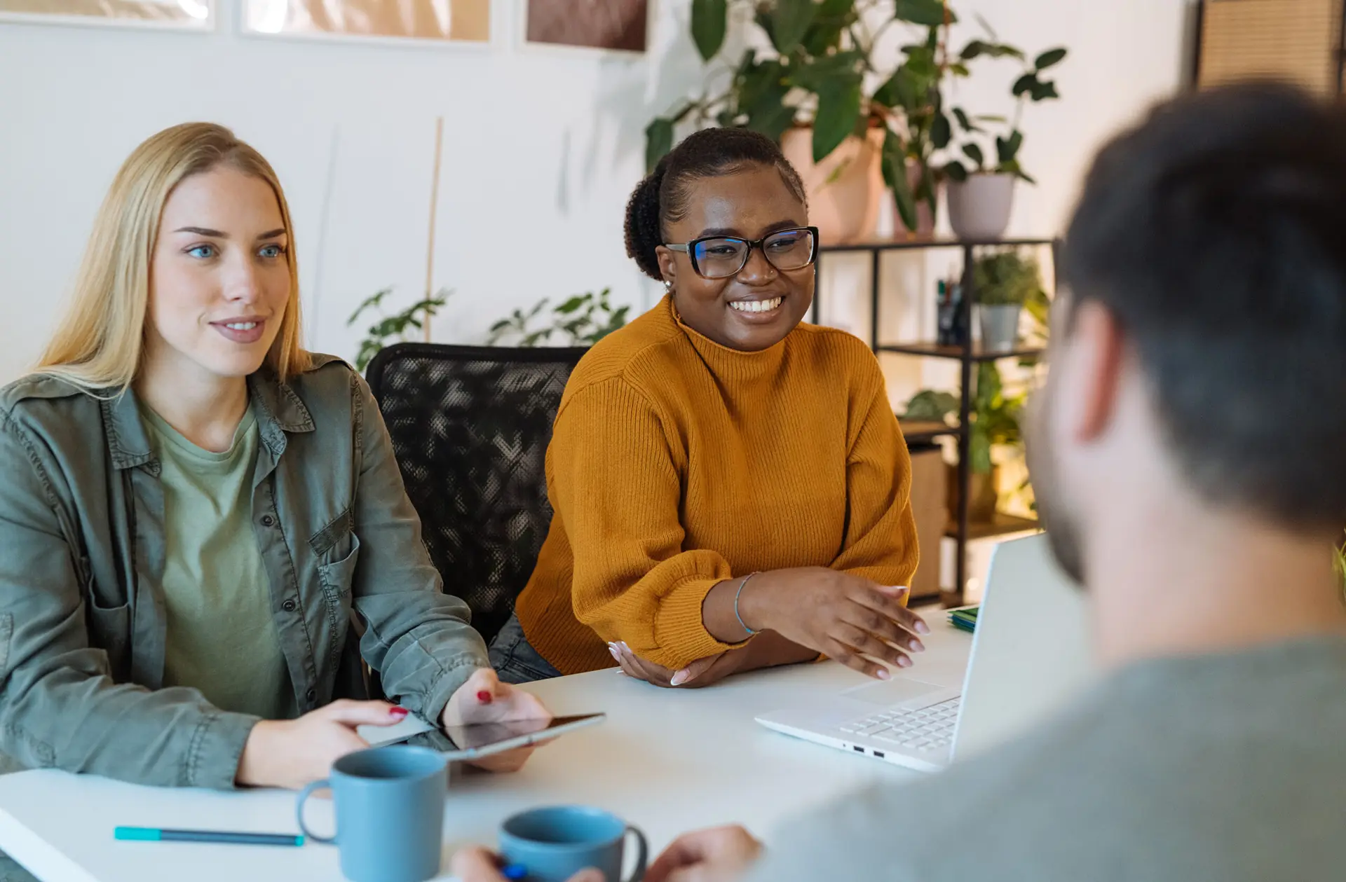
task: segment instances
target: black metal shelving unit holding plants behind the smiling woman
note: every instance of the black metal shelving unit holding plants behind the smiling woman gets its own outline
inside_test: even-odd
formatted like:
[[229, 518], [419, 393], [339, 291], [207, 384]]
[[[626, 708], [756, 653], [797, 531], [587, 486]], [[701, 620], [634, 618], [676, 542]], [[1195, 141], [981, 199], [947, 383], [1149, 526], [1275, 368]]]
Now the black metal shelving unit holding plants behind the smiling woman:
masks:
[[[870, 254], [870, 348], [875, 352], [894, 352], [915, 358], [937, 358], [957, 360], [961, 364], [960, 374], [960, 403], [958, 425], [945, 426], [942, 424], [914, 424], [903, 422], [903, 434], [909, 444], [930, 441], [940, 437], [956, 437], [958, 440], [958, 511], [946, 530], [946, 535], [957, 542], [954, 590], [944, 592], [944, 602], [949, 606], [962, 604], [962, 593], [968, 584], [968, 540], [984, 539], [989, 536], [1005, 535], [1034, 530], [1036, 520], [1014, 518], [1011, 515], [996, 514], [991, 523], [968, 523], [968, 485], [969, 475], [969, 448], [972, 436], [965, 430], [970, 425], [972, 413], [972, 367], [980, 362], [993, 362], [1003, 358], [1035, 358], [1042, 354], [1040, 347], [1016, 347], [1010, 351], [993, 352], [984, 350], [980, 343], [972, 342], [972, 304], [976, 303], [976, 290], [972, 281], [973, 251], [979, 247], [1003, 246], [1051, 246], [1051, 259], [1055, 265], [1058, 239], [875, 239], [870, 242], [856, 242], [851, 245], [824, 245], [820, 254]], [[958, 323], [968, 328], [966, 346], [938, 346], [927, 342], [884, 343], [879, 339], [879, 270], [880, 261], [887, 251], [923, 251], [930, 249], [957, 249], [962, 251], [962, 301], [958, 305]], [[812, 321], [817, 324], [821, 315], [821, 290], [814, 289]]]

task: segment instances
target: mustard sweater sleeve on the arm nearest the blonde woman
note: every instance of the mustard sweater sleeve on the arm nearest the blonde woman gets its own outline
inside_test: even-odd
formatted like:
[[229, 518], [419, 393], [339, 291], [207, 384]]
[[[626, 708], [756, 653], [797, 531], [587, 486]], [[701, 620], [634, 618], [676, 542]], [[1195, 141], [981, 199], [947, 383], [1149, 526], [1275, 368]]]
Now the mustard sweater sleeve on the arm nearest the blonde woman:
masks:
[[732, 648], [701, 621], [705, 596], [732, 573], [715, 551], [682, 550], [682, 481], [664, 425], [625, 379], [595, 383], [557, 415], [548, 469], [575, 617], [676, 670]]

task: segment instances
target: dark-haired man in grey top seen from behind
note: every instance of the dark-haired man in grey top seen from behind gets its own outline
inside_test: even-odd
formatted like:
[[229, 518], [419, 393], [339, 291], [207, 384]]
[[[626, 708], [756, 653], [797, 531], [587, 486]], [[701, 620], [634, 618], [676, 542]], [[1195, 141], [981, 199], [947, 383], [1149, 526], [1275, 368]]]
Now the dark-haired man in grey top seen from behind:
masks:
[[[813, 811], [773, 882], [1346, 875], [1346, 116], [1287, 86], [1158, 108], [1070, 226], [1038, 504], [1106, 678], [1034, 733]], [[646, 877], [735, 877], [740, 830]]]

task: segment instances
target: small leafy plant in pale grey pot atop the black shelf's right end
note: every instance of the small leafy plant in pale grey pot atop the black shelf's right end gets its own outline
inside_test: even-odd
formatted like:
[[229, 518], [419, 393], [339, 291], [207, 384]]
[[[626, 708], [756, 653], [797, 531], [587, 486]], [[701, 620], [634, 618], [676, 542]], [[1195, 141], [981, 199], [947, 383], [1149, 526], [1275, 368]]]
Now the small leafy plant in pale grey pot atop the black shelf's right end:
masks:
[[[1010, 56], [1026, 61], [1019, 50], [993, 42], [973, 42], [973, 58]], [[956, 138], [960, 159], [949, 160], [944, 173], [949, 179], [949, 225], [961, 239], [989, 241], [1000, 238], [1010, 226], [1010, 211], [1014, 207], [1016, 180], [1036, 183], [1019, 164], [1023, 148], [1024, 105], [1058, 98], [1057, 85], [1043, 79], [1042, 74], [1059, 65], [1066, 56], [1065, 48], [1051, 48], [1039, 54], [1032, 65], [1026, 67], [1011, 87], [1015, 97], [1014, 120], [996, 116], [972, 117], [961, 108], [953, 110], [958, 124]], [[987, 128], [987, 124], [1000, 129]], [[995, 144], [995, 161], [991, 160], [991, 141]]]

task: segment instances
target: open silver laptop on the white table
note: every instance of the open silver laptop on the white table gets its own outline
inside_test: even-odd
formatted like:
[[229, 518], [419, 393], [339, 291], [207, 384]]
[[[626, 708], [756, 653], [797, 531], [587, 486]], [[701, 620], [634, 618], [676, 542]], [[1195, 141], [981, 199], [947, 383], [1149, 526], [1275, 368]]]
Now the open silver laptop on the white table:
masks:
[[911, 676], [756, 721], [839, 750], [937, 772], [1042, 719], [1093, 674], [1084, 598], [1053, 559], [1047, 536], [1004, 542], [992, 551], [961, 690], [915, 679], [919, 655], [915, 662]]

